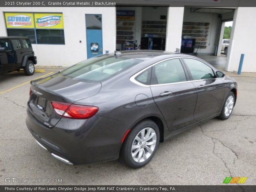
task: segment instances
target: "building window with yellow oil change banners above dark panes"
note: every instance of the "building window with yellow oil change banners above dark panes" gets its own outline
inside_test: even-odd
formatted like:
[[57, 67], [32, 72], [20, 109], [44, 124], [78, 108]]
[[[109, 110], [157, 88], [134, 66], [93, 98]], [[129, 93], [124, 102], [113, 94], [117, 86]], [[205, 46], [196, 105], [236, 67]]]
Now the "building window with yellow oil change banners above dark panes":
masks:
[[62, 13], [5, 12], [8, 36], [27, 36], [32, 44], [65, 44]]

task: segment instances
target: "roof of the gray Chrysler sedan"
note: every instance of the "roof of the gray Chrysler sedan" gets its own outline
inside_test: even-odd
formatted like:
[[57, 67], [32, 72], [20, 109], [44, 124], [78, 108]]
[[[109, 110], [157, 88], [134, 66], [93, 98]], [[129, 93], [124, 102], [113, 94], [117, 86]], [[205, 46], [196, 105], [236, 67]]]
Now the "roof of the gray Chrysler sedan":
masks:
[[[113, 53], [114, 54], [114, 53]], [[157, 56], [169, 55], [177, 56], [175, 52], [159, 51], [159, 50], [132, 50], [132, 51], [116, 51], [116, 56], [127, 57], [131, 59], [149, 60]]]

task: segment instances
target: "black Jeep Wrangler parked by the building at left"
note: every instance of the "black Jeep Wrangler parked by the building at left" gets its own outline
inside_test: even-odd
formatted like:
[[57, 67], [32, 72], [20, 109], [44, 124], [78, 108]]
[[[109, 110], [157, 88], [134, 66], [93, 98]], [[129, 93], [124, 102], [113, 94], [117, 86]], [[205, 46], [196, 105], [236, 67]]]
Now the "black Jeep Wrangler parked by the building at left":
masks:
[[0, 73], [20, 71], [33, 75], [37, 63], [28, 37], [0, 37]]

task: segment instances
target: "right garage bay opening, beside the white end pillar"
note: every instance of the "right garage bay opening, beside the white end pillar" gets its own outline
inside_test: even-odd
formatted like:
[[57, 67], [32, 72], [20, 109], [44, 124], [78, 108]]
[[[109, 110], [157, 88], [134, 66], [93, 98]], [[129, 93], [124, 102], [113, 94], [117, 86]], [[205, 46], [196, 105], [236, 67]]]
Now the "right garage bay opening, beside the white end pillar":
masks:
[[[197, 55], [215, 68], [224, 69], [227, 58], [221, 49], [225, 22], [232, 21], [233, 17], [232, 8], [185, 7], [180, 52]], [[230, 36], [227, 39], [230, 40]]]

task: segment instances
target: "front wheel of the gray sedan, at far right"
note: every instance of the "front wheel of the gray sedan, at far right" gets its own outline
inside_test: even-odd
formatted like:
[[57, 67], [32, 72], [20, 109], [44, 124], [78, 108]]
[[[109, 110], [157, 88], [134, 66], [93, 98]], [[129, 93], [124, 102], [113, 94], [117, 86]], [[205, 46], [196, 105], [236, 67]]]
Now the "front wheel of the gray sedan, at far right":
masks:
[[224, 102], [220, 116], [218, 116], [218, 118], [222, 120], [228, 119], [233, 111], [234, 105], [235, 105], [235, 95], [231, 91], [228, 93], [228, 96]]

